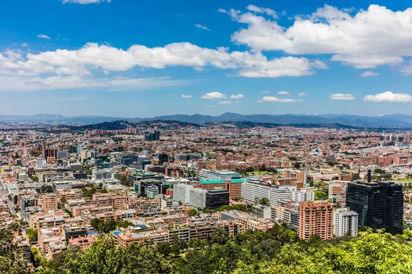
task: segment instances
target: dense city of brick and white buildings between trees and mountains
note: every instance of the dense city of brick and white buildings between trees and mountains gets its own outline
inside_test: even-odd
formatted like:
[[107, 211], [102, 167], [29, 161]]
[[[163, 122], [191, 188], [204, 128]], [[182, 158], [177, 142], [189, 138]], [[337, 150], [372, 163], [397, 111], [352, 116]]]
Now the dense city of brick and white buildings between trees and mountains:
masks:
[[[0, 125], [1, 228], [29, 262], [101, 234], [117, 245], [287, 225], [301, 240], [402, 234], [412, 224], [412, 132], [127, 123]], [[19, 224], [19, 229], [14, 229]], [[43, 259], [42, 259], [43, 260]], [[33, 262], [32, 262], [33, 263]]]

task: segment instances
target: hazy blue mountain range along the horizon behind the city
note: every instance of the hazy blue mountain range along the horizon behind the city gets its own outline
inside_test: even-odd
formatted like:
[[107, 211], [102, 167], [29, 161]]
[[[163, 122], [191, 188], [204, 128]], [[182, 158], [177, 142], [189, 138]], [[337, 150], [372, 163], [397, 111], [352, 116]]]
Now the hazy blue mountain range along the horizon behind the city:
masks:
[[62, 116], [60, 114], [36, 114], [33, 116], [20, 115], [0, 115], [0, 122], [54, 122], [54, 123], [102, 123], [105, 121], [155, 121], [174, 120], [187, 123], [213, 123], [225, 121], [242, 121], [251, 123], [273, 123], [279, 125], [294, 124], [341, 124], [351, 127], [412, 127], [412, 116], [406, 114], [388, 114], [383, 116], [358, 116], [349, 114], [319, 114], [319, 115], [298, 115], [298, 114], [250, 114], [242, 115], [227, 112], [220, 116], [209, 116], [201, 114], [175, 114], [166, 116], [155, 116], [152, 118], [126, 118], [110, 116]]

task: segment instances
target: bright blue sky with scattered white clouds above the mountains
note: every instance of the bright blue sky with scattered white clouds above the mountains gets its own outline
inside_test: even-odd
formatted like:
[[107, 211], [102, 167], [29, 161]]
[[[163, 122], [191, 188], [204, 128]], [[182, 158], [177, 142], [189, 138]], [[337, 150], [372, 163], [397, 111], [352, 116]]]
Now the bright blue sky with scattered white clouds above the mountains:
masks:
[[411, 1], [0, 1], [0, 114], [412, 114]]

